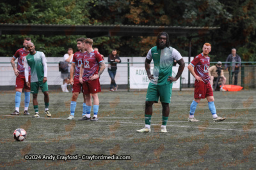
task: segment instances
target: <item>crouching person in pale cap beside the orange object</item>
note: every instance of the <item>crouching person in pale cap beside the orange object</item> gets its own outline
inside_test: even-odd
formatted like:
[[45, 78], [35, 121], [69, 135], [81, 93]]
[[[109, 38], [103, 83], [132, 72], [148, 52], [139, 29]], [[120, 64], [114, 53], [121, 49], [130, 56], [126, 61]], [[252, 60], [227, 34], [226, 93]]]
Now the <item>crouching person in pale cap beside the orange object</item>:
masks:
[[[218, 71], [220, 71], [220, 82], [221, 82], [221, 88], [220, 90], [221, 91], [226, 91], [225, 89], [223, 89], [223, 85], [225, 85], [226, 83], [226, 78], [224, 76], [224, 73], [223, 73], [223, 69], [221, 69], [221, 61], [218, 61], [218, 63], [215, 65], [215, 66], [211, 66], [209, 68], [209, 76], [210, 76], [210, 83], [211, 83], [211, 87], [213, 85], [213, 81], [216, 81], [217, 78], [218, 78]], [[215, 89], [214, 89], [215, 90]]]

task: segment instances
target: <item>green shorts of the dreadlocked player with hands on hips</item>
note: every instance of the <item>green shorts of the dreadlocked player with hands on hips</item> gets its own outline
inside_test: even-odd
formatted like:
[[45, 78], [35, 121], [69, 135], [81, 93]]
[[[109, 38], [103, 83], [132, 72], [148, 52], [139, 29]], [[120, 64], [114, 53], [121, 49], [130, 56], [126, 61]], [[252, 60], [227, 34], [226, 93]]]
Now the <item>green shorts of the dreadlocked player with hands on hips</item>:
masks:
[[149, 83], [146, 101], [154, 101], [155, 103], [158, 103], [159, 97], [161, 103], [171, 103], [172, 83], [161, 86]]

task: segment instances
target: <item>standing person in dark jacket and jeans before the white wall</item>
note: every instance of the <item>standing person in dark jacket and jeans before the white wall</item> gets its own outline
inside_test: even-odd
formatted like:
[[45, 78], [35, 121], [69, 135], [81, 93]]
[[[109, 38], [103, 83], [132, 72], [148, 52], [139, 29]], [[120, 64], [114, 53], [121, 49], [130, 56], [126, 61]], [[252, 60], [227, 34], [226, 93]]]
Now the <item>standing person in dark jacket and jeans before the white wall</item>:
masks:
[[115, 76], [116, 76], [116, 63], [120, 63], [121, 59], [119, 58], [119, 55], [116, 54], [116, 49], [112, 50], [111, 54], [109, 54], [108, 57], [108, 74], [111, 78], [111, 83], [110, 83], [110, 91], [116, 91], [118, 88], [118, 85], [116, 85], [115, 81]]

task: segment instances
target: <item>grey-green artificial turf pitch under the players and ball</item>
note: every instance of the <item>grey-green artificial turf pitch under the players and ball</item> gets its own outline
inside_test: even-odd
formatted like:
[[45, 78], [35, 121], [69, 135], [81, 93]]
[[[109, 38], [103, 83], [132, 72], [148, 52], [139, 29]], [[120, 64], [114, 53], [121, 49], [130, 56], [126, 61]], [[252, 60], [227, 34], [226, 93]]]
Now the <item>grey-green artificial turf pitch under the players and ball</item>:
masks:
[[[256, 91], [214, 92], [215, 106], [223, 122], [213, 122], [206, 99], [188, 122], [193, 91], [173, 91], [167, 133], [161, 133], [161, 103], [154, 104], [152, 132], [144, 127], [146, 92], [99, 93], [99, 121], [79, 121], [83, 97], [79, 94], [75, 120], [67, 120], [71, 93], [50, 92], [49, 110], [38, 94], [40, 118], [34, 114], [32, 96], [29, 113], [15, 109], [15, 92], [0, 92], [0, 169], [253, 169], [256, 161]], [[92, 110], [93, 114], [93, 110]], [[14, 141], [17, 128], [28, 133], [25, 141]], [[26, 160], [38, 155], [129, 155], [131, 160]]]

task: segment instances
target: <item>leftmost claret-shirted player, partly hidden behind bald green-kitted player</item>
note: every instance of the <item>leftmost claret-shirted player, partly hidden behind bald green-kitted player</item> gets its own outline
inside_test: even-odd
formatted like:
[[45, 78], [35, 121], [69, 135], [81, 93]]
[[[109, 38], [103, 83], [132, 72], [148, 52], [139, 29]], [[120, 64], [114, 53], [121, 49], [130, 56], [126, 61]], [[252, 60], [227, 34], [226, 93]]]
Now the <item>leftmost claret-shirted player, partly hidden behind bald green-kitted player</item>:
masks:
[[[13, 67], [14, 74], [16, 76], [16, 95], [15, 95], [15, 111], [11, 115], [19, 115], [20, 110], [20, 96], [24, 87], [25, 100], [24, 100], [24, 115], [29, 115], [28, 106], [30, 101], [30, 87], [26, 85], [25, 74], [24, 74], [24, 58], [29, 54], [28, 43], [31, 42], [30, 38], [24, 38], [24, 48], [20, 48], [15, 52], [12, 57], [11, 64]], [[18, 59], [17, 68], [15, 67], [15, 60]], [[30, 67], [29, 67], [29, 82], [30, 82]]]

